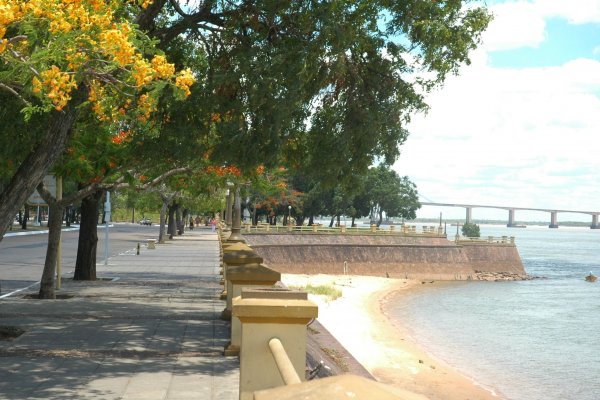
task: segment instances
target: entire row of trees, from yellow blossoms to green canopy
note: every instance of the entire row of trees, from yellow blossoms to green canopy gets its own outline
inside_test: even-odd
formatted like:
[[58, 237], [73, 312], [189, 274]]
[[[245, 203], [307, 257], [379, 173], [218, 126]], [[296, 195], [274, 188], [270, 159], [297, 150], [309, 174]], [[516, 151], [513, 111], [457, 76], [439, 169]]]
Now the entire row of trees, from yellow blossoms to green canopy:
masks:
[[[105, 191], [154, 191], [166, 215], [280, 168], [304, 193], [351, 188], [393, 164], [423, 96], [469, 62], [490, 19], [469, 3], [0, 1], [0, 240], [37, 188], [52, 298], [69, 205], [76, 279], [95, 279]], [[71, 185], [62, 199], [48, 173]]]

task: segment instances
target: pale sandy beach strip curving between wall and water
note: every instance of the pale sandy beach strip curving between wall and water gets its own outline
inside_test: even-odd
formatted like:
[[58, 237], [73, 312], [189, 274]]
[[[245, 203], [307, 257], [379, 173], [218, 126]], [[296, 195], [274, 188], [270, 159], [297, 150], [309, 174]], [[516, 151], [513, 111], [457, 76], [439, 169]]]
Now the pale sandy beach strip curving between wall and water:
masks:
[[[342, 297], [310, 295], [318, 320], [378, 381], [431, 400], [500, 400], [472, 379], [427, 353], [382, 310], [390, 296], [421, 289], [421, 281], [366, 276], [283, 274], [288, 286], [332, 285]], [[426, 290], [426, 288], [423, 288]]]

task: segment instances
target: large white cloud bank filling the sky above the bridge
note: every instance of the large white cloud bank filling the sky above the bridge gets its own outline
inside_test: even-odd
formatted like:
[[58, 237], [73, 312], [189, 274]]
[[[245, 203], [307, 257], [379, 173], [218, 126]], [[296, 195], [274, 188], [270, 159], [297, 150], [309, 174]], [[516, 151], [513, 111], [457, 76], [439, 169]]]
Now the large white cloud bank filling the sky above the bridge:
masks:
[[428, 96], [397, 171], [437, 202], [600, 209], [600, 62], [497, 69], [477, 59]]

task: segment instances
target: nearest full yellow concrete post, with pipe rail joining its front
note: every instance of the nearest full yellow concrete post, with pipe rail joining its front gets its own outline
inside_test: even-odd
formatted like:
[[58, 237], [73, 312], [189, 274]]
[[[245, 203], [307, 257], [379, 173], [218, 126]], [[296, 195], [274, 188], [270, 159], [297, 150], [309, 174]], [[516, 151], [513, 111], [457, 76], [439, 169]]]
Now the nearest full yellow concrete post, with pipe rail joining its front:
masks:
[[305, 292], [287, 289], [243, 289], [233, 314], [241, 322], [240, 400], [252, 400], [254, 391], [283, 386], [284, 381], [269, 348], [277, 338], [296, 373], [304, 380], [306, 325], [316, 318], [316, 304]]

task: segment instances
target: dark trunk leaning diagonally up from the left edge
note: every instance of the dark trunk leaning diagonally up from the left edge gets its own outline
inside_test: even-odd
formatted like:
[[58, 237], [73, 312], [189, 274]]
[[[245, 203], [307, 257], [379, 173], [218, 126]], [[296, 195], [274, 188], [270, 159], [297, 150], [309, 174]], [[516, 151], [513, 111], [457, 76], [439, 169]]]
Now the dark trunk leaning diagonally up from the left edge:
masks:
[[73, 99], [67, 107], [62, 111], [51, 111], [44, 138], [33, 147], [9, 184], [0, 193], [0, 241], [21, 205], [64, 151], [71, 137], [71, 128], [79, 114], [78, 106], [86, 98], [87, 88], [82, 83], [73, 93]]

